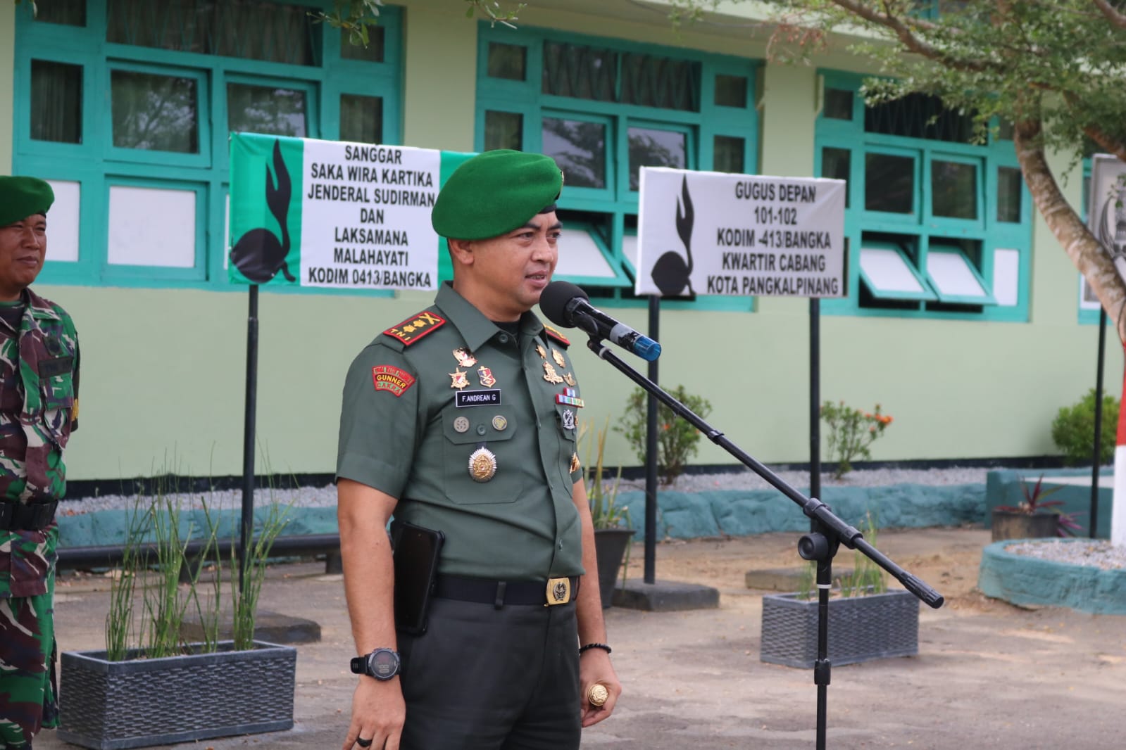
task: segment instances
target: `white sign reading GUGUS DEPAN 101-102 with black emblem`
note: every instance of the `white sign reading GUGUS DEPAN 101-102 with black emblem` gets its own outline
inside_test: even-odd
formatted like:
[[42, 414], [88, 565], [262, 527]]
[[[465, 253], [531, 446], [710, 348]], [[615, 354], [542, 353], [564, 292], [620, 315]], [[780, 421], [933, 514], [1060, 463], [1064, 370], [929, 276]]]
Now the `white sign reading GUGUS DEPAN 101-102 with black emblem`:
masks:
[[637, 295], [843, 297], [844, 181], [641, 169]]

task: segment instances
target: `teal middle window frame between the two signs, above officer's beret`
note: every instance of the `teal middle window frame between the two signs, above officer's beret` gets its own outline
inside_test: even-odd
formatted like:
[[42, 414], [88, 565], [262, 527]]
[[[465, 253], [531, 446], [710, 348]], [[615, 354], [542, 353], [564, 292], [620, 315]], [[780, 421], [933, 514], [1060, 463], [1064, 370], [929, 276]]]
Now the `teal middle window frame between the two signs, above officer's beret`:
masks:
[[[489, 44], [501, 43], [525, 47], [525, 79], [490, 78], [488, 75]], [[543, 49], [545, 42], [573, 44], [611, 49], [616, 53], [640, 53], [699, 64], [699, 110], [686, 111], [660, 107], [598, 101], [543, 93]], [[637, 191], [629, 189], [628, 133], [631, 127], [683, 133], [686, 137], [686, 166], [690, 170], [713, 169], [714, 136], [742, 138], [744, 172], [758, 169], [759, 114], [756, 109], [761, 61], [718, 55], [683, 48], [642, 44], [625, 39], [588, 36], [521, 26], [518, 30], [481, 22], [477, 28], [477, 88], [474, 147], [485, 147], [485, 111], [494, 110], [522, 116], [521, 147], [542, 152], [542, 121], [544, 117], [589, 119], [606, 121], [607, 130], [607, 189], [575, 188], [564, 183], [558, 209], [564, 232], [587, 231], [615, 270], [615, 280], [590, 277], [562, 277], [584, 284], [605, 307], [640, 307], [644, 299], [633, 295], [635, 269], [625, 257], [622, 238], [636, 234]], [[747, 81], [747, 106], [730, 107], [715, 103], [715, 76], [736, 75]], [[620, 90], [620, 78], [617, 81]], [[606, 218], [595, 226], [584, 218], [568, 218], [569, 211], [597, 214]], [[668, 309], [696, 310], [753, 310], [751, 297], [723, 297], [700, 295], [692, 300], [661, 300]]]

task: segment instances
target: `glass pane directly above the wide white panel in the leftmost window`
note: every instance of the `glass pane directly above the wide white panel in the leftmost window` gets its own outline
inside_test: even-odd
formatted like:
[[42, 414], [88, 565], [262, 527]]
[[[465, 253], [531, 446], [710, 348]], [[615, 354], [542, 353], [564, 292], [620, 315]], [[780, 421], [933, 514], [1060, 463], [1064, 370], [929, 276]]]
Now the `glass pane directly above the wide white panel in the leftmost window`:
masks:
[[115, 70], [109, 80], [115, 146], [199, 153], [196, 79]]

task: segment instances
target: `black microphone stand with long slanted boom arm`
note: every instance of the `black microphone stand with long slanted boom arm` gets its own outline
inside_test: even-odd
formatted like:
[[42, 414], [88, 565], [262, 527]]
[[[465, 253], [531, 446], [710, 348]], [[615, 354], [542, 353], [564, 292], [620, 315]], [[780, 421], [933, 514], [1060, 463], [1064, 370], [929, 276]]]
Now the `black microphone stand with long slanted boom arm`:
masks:
[[[586, 318], [586, 319], [583, 319]], [[589, 323], [588, 323], [589, 322]], [[942, 596], [921, 579], [912, 576], [903, 568], [899, 567], [890, 558], [868, 542], [864, 541], [864, 534], [854, 526], [844, 523], [842, 518], [834, 515], [829, 506], [815, 497], [805, 497], [799, 491], [786, 484], [778, 475], [766, 466], [756, 461], [738, 445], [727, 440], [722, 432], [715, 430], [707, 422], [701, 419], [695, 412], [678, 401], [668, 392], [662, 390], [640, 372], [623, 362], [611, 352], [601, 337], [598, 335], [597, 326], [587, 316], [575, 316], [574, 323], [590, 335], [587, 346], [601, 359], [613, 364], [618, 371], [655, 396], [661, 403], [671, 408], [678, 416], [686, 419], [694, 427], [704, 433], [708, 440], [723, 448], [733, 457], [739, 459], [744, 466], [752, 469], [757, 475], [766, 479], [770, 485], [781, 491], [783, 495], [797, 503], [802, 512], [811, 519], [812, 531], [802, 536], [797, 542], [797, 553], [805, 560], [815, 560], [817, 563], [817, 659], [813, 667], [813, 683], [817, 686], [817, 750], [825, 748], [825, 724], [828, 719], [826, 705], [829, 698], [829, 588], [832, 585], [832, 560], [841, 544], [850, 550], [860, 550], [881, 568], [890, 572], [903, 587], [919, 597], [928, 606], [935, 609], [942, 606]]]

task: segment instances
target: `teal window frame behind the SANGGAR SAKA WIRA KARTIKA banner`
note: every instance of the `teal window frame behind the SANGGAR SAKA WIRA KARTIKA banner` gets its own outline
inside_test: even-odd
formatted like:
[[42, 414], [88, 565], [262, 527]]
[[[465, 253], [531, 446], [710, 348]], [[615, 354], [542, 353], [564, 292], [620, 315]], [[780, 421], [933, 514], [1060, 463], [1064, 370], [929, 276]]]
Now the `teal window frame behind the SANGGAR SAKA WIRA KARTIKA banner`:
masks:
[[[331, 0], [269, 0], [279, 4], [331, 9]], [[340, 55], [340, 31], [327, 24], [314, 26], [314, 57], [319, 64], [296, 65], [245, 57], [169, 51], [106, 40], [107, 0], [87, 0], [87, 25], [64, 26], [36, 21], [32, 3], [15, 8], [12, 173], [79, 183], [79, 257], [48, 257], [41, 283], [187, 288], [242, 291], [223, 268], [229, 246], [225, 236], [227, 193], [226, 83], [276, 85], [306, 92], [309, 137], [336, 139], [340, 133], [340, 94], [383, 99], [383, 142], [402, 143], [403, 9], [386, 6], [379, 13], [384, 34], [384, 62], [346, 60]], [[34, 141], [30, 137], [32, 60], [82, 67], [82, 141], [78, 144]], [[194, 76], [199, 100], [199, 154], [177, 154], [113, 146], [109, 107], [111, 70]], [[196, 265], [193, 269], [110, 265], [108, 263], [109, 187], [190, 186], [196, 196]], [[391, 290], [328, 289], [266, 286], [277, 293], [391, 297]]]

